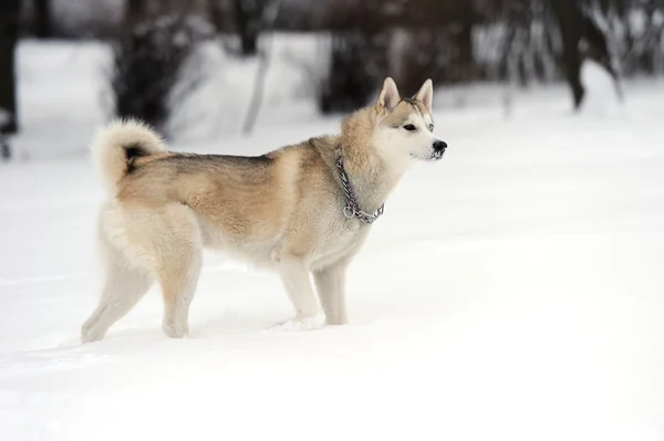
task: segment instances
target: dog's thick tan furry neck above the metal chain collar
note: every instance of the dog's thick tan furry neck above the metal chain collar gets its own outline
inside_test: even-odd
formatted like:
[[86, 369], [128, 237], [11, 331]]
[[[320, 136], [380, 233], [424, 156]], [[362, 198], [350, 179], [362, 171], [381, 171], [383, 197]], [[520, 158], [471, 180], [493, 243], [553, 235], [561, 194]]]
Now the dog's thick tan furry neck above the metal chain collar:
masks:
[[385, 202], [406, 170], [404, 164], [388, 164], [378, 156], [373, 139], [375, 112], [369, 107], [346, 118], [339, 137], [344, 168], [361, 209], [367, 213]]

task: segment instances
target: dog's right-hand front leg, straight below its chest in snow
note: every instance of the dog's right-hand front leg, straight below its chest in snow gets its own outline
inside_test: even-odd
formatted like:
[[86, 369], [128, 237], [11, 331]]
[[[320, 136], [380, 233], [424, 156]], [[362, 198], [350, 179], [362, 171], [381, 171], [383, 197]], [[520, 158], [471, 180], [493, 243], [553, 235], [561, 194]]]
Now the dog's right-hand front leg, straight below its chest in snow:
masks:
[[321, 298], [329, 325], [349, 323], [345, 306], [345, 270], [347, 262], [338, 262], [313, 273], [315, 287]]

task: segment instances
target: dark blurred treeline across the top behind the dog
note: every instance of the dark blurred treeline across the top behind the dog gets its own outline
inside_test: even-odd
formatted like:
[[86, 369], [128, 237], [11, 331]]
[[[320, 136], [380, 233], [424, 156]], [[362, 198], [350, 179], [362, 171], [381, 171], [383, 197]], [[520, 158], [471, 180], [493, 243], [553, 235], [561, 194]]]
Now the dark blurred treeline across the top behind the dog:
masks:
[[[63, 2], [60, 2], [61, 4]], [[72, 4], [82, 4], [72, 1]], [[0, 130], [14, 132], [14, 52], [19, 35], [101, 38], [114, 48], [112, 88], [118, 115], [157, 126], [169, 96], [194, 87], [181, 66], [203, 40], [234, 36], [237, 56], [259, 56], [272, 31], [328, 35], [328, 72], [317, 82], [323, 113], [364, 105], [385, 75], [405, 92], [436, 84], [502, 81], [528, 85], [564, 80], [583, 101], [583, 60], [618, 80], [664, 73], [664, 0], [104, 0], [87, 4], [85, 23], [51, 0], [0, 2]], [[121, 11], [110, 11], [121, 8]], [[72, 8], [74, 8], [72, 6]], [[95, 9], [98, 13], [94, 14]], [[111, 8], [111, 9], [110, 9]], [[90, 12], [92, 10], [92, 12]], [[66, 20], [65, 20], [66, 15]], [[93, 18], [90, 18], [93, 17]], [[267, 64], [261, 65], [263, 71]], [[257, 82], [259, 84], [259, 82]], [[260, 96], [257, 95], [257, 96]]]

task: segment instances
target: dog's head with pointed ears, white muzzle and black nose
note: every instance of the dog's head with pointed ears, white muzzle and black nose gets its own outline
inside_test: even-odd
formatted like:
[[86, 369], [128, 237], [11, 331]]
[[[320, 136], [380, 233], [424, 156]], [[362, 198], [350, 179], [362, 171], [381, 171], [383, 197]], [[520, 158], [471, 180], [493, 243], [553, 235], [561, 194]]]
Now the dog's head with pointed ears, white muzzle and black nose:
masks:
[[390, 77], [374, 105], [373, 144], [387, 161], [438, 160], [447, 144], [434, 136], [432, 102], [434, 84], [424, 82], [412, 98], [401, 98]]

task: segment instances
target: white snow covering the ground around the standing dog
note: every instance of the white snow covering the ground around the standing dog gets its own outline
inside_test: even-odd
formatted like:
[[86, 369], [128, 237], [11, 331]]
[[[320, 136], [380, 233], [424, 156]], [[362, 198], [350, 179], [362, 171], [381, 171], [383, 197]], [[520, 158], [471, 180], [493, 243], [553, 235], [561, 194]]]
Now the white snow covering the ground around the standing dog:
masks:
[[[207, 255], [190, 338], [162, 334], [153, 290], [81, 346], [103, 192], [80, 151], [104, 117], [102, 59], [22, 48], [25, 135], [0, 167], [0, 440], [664, 440], [664, 83], [627, 83], [616, 108], [590, 69], [583, 115], [556, 86], [515, 94], [509, 118], [499, 88], [438, 88], [450, 147], [387, 200], [347, 326], [272, 328], [291, 315], [277, 276]], [[175, 148], [258, 154], [338, 125], [283, 106], [249, 138]]]

